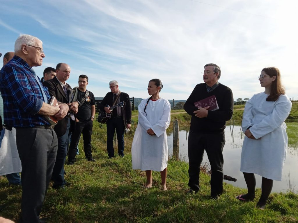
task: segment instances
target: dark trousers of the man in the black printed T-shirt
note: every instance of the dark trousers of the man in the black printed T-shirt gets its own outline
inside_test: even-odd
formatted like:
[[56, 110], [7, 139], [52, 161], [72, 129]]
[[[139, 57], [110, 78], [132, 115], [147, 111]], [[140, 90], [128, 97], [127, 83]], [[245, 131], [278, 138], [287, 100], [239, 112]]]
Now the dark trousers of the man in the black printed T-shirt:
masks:
[[92, 159], [91, 154], [91, 135], [92, 135], [93, 121], [79, 121], [75, 125], [75, 131], [72, 132], [72, 140], [69, 146], [68, 161], [74, 162], [77, 155], [77, 145], [80, 141], [80, 136], [83, 133], [84, 151], [86, 159]]

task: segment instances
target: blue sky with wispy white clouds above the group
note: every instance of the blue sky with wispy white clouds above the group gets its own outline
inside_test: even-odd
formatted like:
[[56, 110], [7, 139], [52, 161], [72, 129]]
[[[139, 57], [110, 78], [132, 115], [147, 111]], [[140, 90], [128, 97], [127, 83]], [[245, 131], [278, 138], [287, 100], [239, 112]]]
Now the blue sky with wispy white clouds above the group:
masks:
[[[257, 77], [276, 66], [289, 97], [298, 96], [297, 1], [277, 0], [0, 0], [0, 52], [13, 51], [20, 34], [43, 41], [35, 71], [68, 63], [67, 81], [80, 74], [97, 97], [116, 79], [130, 97], [147, 98], [148, 81], [162, 80], [161, 96], [187, 99], [207, 63], [221, 67], [220, 82], [234, 99], [263, 91]], [[295, 22], [296, 21], [296, 22]], [[2, 59], [2, 58], [1, 58]]]

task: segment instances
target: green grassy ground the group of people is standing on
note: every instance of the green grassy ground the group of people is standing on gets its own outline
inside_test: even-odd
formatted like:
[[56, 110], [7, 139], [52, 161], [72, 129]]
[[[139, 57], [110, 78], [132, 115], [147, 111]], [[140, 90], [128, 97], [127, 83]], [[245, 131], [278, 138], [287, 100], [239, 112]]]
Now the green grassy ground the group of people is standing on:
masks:
[[[183, 110], [182, 110], [183, 111]], [[181, 111], [181, 112], [182, 112]], [[187, 114], [172, 114], [181, 123], [189, 123]], [[144, 189], [145, 172], [132, 170], [131, 143], [137, 117], [133, 118], [131, 133], [125, 136], [125, 157], [107, 159], [106, 125], [94, 122], [92, 136], [95, 163], [84, 159], [82, 141], [75, 165], [65, 165], [66, 180], [71, 184], [65, 190], [49, 187], [41, 217], [49, 222], [105, 223], [105, 222], [298, 222], [298, 195], [293, 192], [273, 193], [265, 210], [254, 208], [260, 197], [257, 189], [254, 202], [239, 202], [235, 196], [245, 189], [224, 184], [219, 200], [210, 200], [210, 177], [200, 175], [201, 190], [187, 194], [188, 164], [170, 159], [167, 188], [161, 191], [160, 174], [153, 172], [153, 188]], [[287, 123], [289, 141], [297, 143], [297, 123]], [[51, 183], [52, 184], [52, 183]], [[20, 214], [21, 188], [9, 186], [0, 179], [0, 212], [17, 221]]]

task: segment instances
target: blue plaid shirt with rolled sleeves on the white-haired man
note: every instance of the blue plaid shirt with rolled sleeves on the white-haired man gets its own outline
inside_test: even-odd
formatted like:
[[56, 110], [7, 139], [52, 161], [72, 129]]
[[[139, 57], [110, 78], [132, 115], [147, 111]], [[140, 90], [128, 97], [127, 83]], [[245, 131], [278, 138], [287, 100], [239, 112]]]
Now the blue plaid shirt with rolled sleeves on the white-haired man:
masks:
[[31, 69], [26, 61], [14, 56], [0, 71], [4, 123], [15, 128], [49, 125], [44, 116], [37, 113], [44, 103], [41, 87], [47, 100], [50, 95], [46, 87], [38, 84]]

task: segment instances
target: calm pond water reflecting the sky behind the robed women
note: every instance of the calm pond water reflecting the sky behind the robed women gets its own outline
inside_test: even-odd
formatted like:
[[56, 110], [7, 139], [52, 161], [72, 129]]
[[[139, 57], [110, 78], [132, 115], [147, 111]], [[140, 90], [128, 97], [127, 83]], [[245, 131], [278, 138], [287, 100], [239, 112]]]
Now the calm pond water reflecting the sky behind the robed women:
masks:
[[[240, 158], [241, 158], [241, 148], [243, 143], [243, 137], [245, 136], [240, 132], [240, 126], [235, 125], [234, 130], [232, 131], [233, 126], [227, 126], [225, 129], [225, 138], [226, 144], [223, 149], [224, 156], [224, 174], [236, 178], [236, 182], [224, 180], [226, 183], [230, 183], [234, 186], [241, 188], [246, 188], [246, 183], [243, 177], [242, 172], [240, 172]], [[188, 130], [179, 131], [179, 159], [188, 162], [187, 155], [187, 140], [188, 140]], [[169, 155], [173, 155], [173, 134], [168, 134], [168, 150]], [[177, 153], [174, 150], [174, 155]], [[207, 153], [204, 152], [204, 158], [202, 164], [208, 161]], [[283, 181], [274, 181], [272, 192], [286, 192], [289, 186], [289, 176], [291, 180], [291, 188], [294, 188], [294, 191], [298, 190], [298, 148], [297, 147], [288, 147], [287, 157], [285, 160], [285, 166], [283, 168]], [[262, 177], [259, 175], [256, 176], [257, 185], [256, 187], [261, 187]]]

